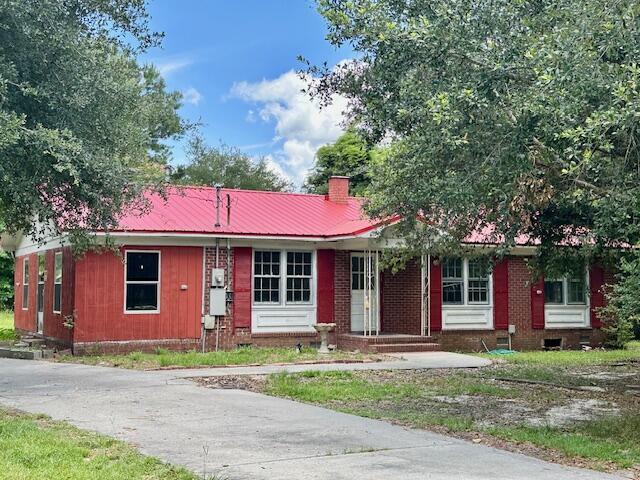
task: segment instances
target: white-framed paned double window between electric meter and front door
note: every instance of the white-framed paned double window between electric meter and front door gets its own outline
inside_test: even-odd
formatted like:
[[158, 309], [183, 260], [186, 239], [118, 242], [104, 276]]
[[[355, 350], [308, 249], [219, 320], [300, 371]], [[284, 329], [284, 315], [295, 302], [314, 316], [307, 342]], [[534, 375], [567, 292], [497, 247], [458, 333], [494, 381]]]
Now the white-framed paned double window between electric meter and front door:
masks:
[[[285, 262], [281, 268], [282, 262]], [[253, 257], [253, 302], [258, 305], [311, 304], [313, 253], [256, 250]]]

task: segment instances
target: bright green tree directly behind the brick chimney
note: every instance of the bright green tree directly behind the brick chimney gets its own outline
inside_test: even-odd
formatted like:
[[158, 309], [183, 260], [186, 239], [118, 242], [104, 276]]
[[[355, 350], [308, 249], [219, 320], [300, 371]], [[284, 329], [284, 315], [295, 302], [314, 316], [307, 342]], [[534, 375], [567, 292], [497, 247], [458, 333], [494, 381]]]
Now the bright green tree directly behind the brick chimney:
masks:
[[374, 151], [353, 130], [347, 130], [335, 143], [325, 145], [316, 153], [316, 165], [304, 183], [311, 193], [327, 193], [327, 183], [332, 175], [350, 178], [352, 195], [364, 195], [371, 183], [370, 169]]

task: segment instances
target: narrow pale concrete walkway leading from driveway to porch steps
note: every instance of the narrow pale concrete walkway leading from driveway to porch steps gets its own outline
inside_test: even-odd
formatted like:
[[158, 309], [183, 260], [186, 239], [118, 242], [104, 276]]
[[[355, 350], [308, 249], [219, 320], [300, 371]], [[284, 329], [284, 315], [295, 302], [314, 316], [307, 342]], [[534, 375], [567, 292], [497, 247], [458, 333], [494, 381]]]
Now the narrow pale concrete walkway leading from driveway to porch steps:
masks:
[[491, 365], [491, 360], [452, 352], [387, 353], [396, 360], [367, 363], [306, 363], [299, 365], [260, 365], [249, 367], [186, 368], [157, 370], [158, 375], [171, 378], [219, 377], [227, 375], [269, 375], [280, 372], [309, 370], [421, 370], [432, 368], [479, 368]]

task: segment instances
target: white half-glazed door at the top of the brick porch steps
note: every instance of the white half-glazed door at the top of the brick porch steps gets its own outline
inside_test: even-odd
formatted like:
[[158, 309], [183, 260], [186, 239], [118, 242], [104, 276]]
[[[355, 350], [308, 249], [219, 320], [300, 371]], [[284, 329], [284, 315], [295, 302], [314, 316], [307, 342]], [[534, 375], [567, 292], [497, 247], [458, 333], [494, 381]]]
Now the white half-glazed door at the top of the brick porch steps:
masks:
[[365, 330], [365, 291], [367, 292], [367, 305], [371, 309], [371, 331], [378, 330], [378, 296], [376, 289], [378, 282], [375, 278], [375, 259], [371, 261], [372, 276], [371, 290], [365, 289], [365, 255], [363, 253], [351, 254], [351, 331], [364, 332]]

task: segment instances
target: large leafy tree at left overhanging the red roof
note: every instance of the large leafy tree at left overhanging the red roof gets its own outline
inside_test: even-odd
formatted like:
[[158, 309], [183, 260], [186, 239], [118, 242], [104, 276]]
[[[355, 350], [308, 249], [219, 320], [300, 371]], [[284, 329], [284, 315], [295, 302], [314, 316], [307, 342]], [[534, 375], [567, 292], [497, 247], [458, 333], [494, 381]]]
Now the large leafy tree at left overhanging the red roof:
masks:
[[0, 0], [0, 230], [80, 240], [143, 207], [186, 127], [135, 54], [156, 45], [144, 0]]

